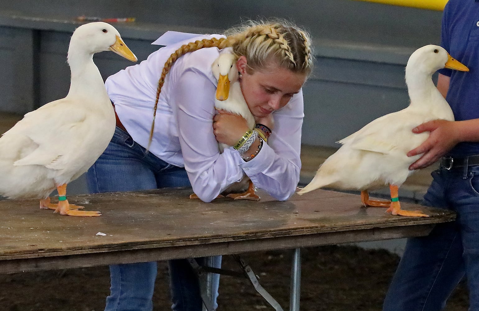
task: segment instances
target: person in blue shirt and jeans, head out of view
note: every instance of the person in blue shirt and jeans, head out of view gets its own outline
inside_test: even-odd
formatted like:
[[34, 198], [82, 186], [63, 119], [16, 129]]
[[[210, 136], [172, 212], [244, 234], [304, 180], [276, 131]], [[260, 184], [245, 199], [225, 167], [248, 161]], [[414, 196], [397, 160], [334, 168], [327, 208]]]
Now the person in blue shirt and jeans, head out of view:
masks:
[[436, 161], [438, 170], [424, 196], [424, 205], [457, 213], [456, 221], [437, 225], [426, 237], [406, 244], [392, 279], [384, 311], [442, 310], [451, 292], [466, 276], [469, 310], [479, 310], [479, 2], [449, 0], [441, 46], [470, 71], [441, 69], [437, 88], [456, 121], [434, 120], [413, 129], [429, 138], [408, 156], [423, 154], [410, 169]]

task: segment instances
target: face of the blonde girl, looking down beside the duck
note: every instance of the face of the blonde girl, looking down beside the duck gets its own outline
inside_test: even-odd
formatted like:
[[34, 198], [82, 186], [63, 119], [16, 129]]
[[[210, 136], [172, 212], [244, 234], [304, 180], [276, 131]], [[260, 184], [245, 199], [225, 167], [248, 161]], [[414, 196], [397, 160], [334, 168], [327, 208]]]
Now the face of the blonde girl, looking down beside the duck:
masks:
[[306, 74], [275, 66], [273, 63], [265, 69], [251, 72], [247, 70], [244, 56], [238, 59], [236, 65], [243, 76], [240, 79], [241, 92], [255, 117], [265, 117], [283, 108], [306, 81]]

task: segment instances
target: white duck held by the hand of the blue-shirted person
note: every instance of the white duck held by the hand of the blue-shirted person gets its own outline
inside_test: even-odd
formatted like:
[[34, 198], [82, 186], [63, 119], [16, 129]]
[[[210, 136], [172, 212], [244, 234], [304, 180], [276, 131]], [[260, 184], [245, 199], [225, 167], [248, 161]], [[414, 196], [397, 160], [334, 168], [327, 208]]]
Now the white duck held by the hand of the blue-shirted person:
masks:
[[[361, 190], [364, 206], [389, 207], [393, 215], [427, 217], [420, 211], [402, 210], [398, 189], [413, 172], [409, 166], [421, 157], [408, 157], [407, 152], [429, 137], [429, 133], [414, 134], [412, 129], [435, 119], [454, 121], [449, 104], [432, 80], [433, 73], [441, 68], [469, 71], [441, 46], [428, 45], [414, 51], [406, 66], [409, 106], [381, 116], [340, 140], [342, 147], [324, 161], [298, 194], [322, 187]], [[387, 185], [391, 201], [369, 200], [368, 190]]]

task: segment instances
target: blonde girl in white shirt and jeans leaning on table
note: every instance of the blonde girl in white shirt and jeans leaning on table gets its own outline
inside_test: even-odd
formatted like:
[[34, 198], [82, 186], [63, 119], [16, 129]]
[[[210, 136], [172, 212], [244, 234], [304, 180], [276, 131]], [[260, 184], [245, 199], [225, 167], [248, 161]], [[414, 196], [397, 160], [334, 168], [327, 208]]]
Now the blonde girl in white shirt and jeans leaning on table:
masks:
[[[292, 23], [266, 21], [248, 22], [225, 35], [198, 35], [179, 42], [174, 35], [171, 40], [171, 33], [166, 35], [167, 46], [105, 82], [117, 127], [87, 174], [89, 190], [191, 184], [194, 193], [209, 202], [246, 174], [278, 200], [292, 196], [301, 167], [301, 87], [312, 70], [308, 33]], [[249, 134], [243, 117], [214, 108], [217, 80], [211, 65], [226, 47], [237, 57], [234, 66], [241, 92], [258, 134]], [[248, 144], [235, 149], [243, 137]], [[219, 153], [218, 142], [232, 147]], [[204, 258], [197, 260], [202, 263]], [[215, 265], [220, 263], [221, 256], [215, 256]], [[170, 260], [168, 265], [172, 310], [201, 311], [198, 281], [187, 261]], [[112, 265], [110, 272], [105, 311], [152, 310], [156, 262]], [[218, 283], [216, 277], [216, 288]]]

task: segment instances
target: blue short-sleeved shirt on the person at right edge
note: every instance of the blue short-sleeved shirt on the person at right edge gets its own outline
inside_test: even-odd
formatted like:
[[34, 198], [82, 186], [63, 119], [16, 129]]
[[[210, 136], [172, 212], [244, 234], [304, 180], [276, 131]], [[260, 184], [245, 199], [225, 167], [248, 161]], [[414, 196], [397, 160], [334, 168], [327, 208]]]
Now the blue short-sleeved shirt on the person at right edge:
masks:
[[[469, 72], [440, 69], [451, 77], [446, 100], [456, 121], [479, 118], [479, 2], [449, 0], [445, 6], [441, 46]], [[461, 142], [450, 155], [461, 157], [479, 154], [479, 142]]]

